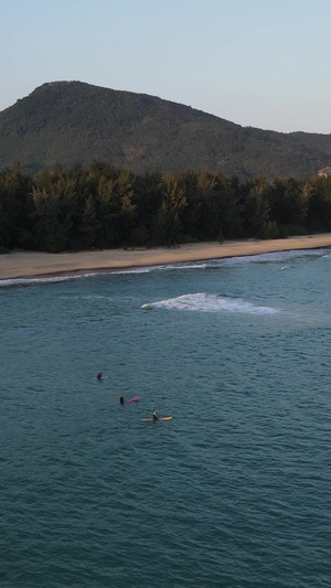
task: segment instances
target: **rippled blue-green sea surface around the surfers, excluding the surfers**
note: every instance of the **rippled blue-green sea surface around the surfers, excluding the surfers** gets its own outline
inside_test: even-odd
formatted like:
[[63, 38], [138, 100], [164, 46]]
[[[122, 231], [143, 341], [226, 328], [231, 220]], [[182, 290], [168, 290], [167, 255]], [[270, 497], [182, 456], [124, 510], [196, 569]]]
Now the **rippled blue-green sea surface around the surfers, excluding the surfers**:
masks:
[[1, 588], [331, 587], [330, 249], [6, 280], [0, 327]]

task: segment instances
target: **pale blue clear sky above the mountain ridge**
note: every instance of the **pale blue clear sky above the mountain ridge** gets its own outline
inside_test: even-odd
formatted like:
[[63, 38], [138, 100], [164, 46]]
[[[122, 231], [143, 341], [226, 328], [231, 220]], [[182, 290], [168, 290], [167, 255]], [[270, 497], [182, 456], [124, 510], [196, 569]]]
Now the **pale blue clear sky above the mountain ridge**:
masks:
[[0, 111], [46, 82], [331, 133], [331, 0], [0, 0]]

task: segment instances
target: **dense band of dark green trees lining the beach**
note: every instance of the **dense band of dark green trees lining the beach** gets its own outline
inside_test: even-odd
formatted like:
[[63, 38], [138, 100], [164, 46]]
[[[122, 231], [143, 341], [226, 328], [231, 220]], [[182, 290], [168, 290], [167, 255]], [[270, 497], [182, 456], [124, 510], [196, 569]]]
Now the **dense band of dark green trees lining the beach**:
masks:
[[331, 178], [134, 174], [94, 161], [0, 172], [0, 249], [64, 252], [331, 231]]

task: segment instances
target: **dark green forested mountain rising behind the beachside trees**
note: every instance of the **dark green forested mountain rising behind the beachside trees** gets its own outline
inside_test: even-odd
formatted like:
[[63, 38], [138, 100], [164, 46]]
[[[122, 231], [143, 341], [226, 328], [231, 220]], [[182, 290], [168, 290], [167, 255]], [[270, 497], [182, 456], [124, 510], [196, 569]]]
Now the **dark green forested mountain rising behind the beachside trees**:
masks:
[[0, 168], [36, 173], [94, 159], [147, 171], [306, 178], [331, 163], [331, 135], [242, 127], [189, 106], [82, 82], [43, 84], [0, 113]]

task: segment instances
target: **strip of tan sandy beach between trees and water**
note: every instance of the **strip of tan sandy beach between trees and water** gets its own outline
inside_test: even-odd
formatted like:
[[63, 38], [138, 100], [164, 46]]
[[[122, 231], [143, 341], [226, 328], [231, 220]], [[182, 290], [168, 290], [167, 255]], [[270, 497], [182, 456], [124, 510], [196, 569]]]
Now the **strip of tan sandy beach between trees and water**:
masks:
[[271, 240], [249, 239], [224, 242], [222, 244], [201, 243], [153, 249], [104, 249], [62, 254], [13, 252], [0, 255], [0, 279], [31, 278], [66, 272], [82, 274], [90, 270], [120, 270], [132, 267], [319, 247], [331, 247], [331, 234]]

